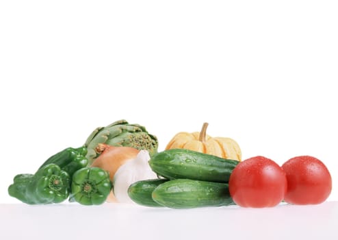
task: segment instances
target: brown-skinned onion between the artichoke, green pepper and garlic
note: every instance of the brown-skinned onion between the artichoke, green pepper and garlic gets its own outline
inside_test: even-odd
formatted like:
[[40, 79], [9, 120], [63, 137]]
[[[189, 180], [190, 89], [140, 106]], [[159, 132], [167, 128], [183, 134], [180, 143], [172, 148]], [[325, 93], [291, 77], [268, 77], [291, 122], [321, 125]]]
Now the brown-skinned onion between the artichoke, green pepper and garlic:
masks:
[[[114, 147], [103, 143], [96, 147], [96, 151], [100, 156], [94, 160], [90, 167], [100, 167], [108, 171], [110, 181], [113, 181], [114, 175], [121, 165], [126, 163], [127, 160], [135, 159], [140, 152], [140, 150], [133, 147]], [[106, 201], [118, 202], [112, 191]]]

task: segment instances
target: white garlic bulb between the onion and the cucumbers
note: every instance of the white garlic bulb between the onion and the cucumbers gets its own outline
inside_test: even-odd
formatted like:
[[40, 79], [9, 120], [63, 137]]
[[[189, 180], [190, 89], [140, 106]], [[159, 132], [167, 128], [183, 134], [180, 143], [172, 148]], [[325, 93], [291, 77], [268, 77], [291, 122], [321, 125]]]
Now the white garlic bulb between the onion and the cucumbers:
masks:
[[115, 173], [113, 179], [114, 195], [118, 202], [133, 203], [128, 188], [134, 182], [156, 178], [157, 175], [148, 165], [151, 157], [148, 151], [141, 150], [135, 159], [127, 161]]

